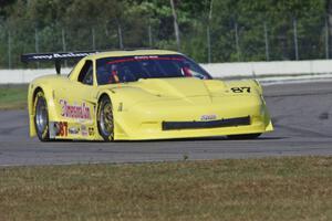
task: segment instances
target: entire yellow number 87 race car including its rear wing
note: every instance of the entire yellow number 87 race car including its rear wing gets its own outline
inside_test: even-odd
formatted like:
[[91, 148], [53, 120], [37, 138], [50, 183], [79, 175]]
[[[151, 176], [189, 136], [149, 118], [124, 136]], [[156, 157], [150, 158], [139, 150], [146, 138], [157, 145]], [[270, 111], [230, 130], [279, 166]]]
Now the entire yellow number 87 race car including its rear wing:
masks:
[[24, 54], [23, 62], [81, 59], [69, 75], [29, 86], [30, 135], [40, 140], [141, 140], [229, 136], [273, 129], [257, 81], [212, 80], [164, 50]]

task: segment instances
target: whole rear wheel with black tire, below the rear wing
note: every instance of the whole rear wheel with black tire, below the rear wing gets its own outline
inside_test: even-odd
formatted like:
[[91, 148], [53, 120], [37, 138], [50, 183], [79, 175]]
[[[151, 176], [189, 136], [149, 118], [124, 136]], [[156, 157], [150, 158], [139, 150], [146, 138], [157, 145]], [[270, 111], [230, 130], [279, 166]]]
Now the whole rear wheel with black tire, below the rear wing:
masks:
[[39, 91], [34, 96], [33, 110], [33, 120], [37, 136], [41, 141], [49, 141], [49, 109], [44, 93], [41, 91]]

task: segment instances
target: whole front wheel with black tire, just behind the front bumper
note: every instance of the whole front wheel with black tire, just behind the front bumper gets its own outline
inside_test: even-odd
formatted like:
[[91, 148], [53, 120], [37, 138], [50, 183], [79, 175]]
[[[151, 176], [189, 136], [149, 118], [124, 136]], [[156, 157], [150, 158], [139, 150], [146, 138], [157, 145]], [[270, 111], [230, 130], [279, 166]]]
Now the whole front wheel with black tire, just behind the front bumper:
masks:
[[113, 106], [110, 97], [103, 96], [100, 99], [96, 117], [98, 133], [104, 141], [114, 140]]

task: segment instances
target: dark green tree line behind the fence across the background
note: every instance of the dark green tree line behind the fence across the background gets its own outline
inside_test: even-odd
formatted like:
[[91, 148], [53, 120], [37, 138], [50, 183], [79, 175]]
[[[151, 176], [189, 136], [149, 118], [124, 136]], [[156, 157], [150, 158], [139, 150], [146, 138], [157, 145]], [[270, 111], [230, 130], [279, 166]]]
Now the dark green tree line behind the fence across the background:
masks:
[[329, 59], [330, 12], [330, 0], [0, 0], [0, 69], [22, 53], [149, 46], [203, 63]]

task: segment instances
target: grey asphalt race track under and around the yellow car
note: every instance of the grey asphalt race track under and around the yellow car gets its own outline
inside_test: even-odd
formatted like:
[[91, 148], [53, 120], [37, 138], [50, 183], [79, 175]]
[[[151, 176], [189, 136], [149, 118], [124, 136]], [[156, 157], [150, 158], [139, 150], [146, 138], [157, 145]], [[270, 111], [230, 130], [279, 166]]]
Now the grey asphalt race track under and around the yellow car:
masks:
[[2, 110], [0, 166], [332, 156], [332, 82], [269, 85], [264, 97], [274, 131], [255, 140], [40, 143], [28, 135], [27, 110]]

